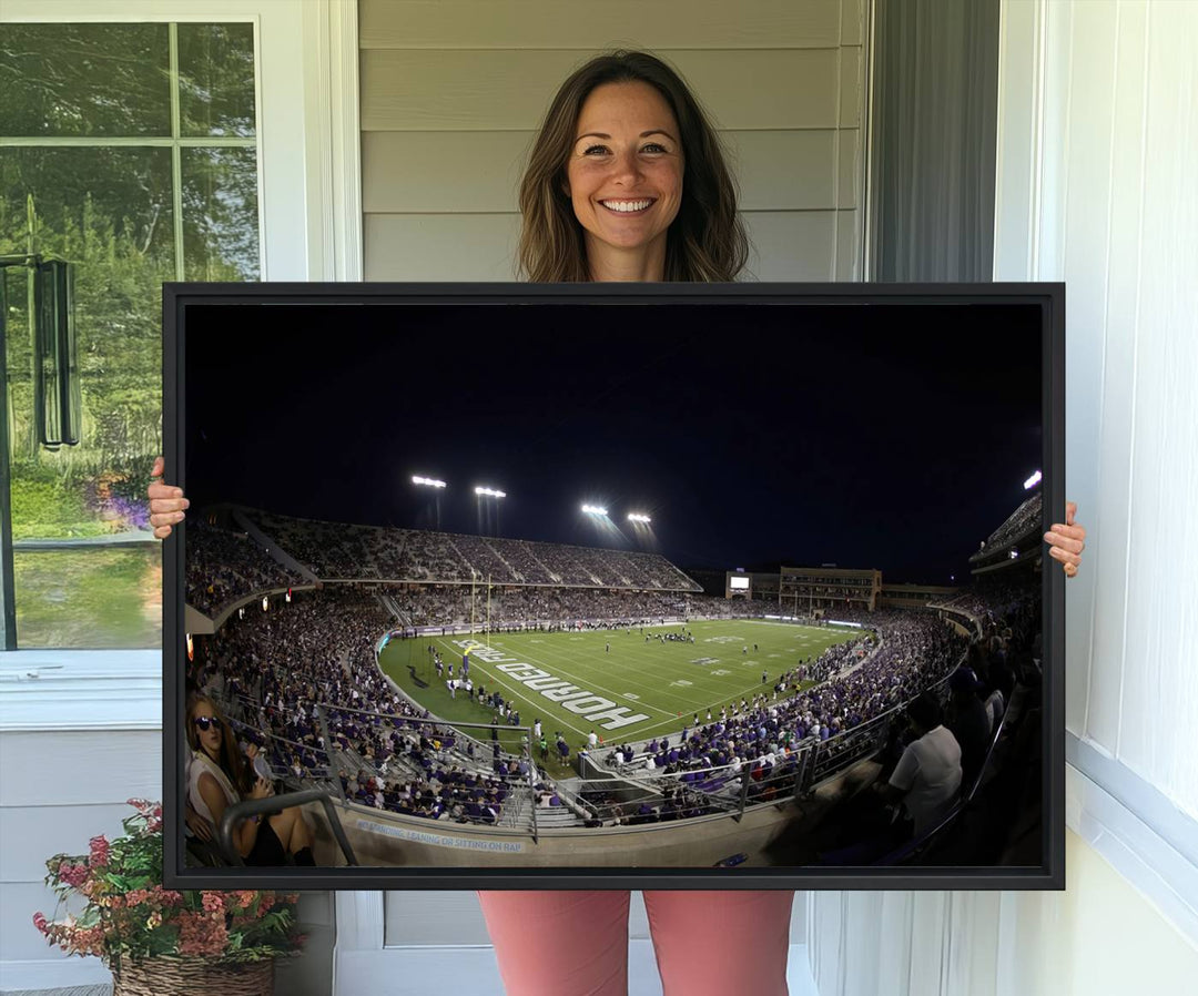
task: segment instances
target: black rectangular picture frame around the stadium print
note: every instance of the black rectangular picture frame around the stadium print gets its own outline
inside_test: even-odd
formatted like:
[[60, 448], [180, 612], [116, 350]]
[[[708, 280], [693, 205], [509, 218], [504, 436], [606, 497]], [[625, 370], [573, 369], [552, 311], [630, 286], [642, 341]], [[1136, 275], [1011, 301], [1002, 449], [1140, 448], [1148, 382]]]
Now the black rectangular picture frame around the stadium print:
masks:
[[[462, 304], [483, 308], [568, 304], [1033, 304], [1041, 319], [1041, 414], [1045, 523], [1065, 506], [1065, 286], [1021, 284], [196, 284], [163, 288], [164, 455], [168, 481], [187, 488], [184, 369], [189, 309], [329, 304]], [[292, 312], [297, 314], [297, 312]], [[962, 330], [968, 348], [969, 330]], [[319, 375], [319, 372], [314, 372]], [[183, 844], [186, 529], [163, 549], [164, 879], [171, 888], [277, 889], [1063, 889], [1065, 887], [1065, 677], [1063, 572], [1042, 571], [1043, 724], [1040, 867], [768, 869], [477, 869], [477, 868], [188, 868]]]

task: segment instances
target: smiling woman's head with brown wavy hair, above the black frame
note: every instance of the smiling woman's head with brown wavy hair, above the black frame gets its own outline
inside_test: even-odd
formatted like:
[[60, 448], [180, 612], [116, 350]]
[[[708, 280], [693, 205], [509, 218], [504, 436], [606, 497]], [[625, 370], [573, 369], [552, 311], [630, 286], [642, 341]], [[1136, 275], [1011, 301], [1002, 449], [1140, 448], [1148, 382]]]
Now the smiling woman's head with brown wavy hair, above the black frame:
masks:
[[749, 241], [710, 121], [642, 52], [562, 84], [520, 186], [520, 267], [536, 282], [733, 280]]

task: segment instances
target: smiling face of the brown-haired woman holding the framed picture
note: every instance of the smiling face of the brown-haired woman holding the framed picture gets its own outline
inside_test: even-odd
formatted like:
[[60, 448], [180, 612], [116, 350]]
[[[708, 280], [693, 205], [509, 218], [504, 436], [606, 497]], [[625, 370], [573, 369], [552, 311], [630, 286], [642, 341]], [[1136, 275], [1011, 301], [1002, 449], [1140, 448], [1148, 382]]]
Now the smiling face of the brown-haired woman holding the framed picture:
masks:
[[647, 83], [597, 86], [574, 133], [568, 193], [592, 266], [601, 253], [653, 249], [664, 260], [684, 167], [678, 122], [665, 98]]

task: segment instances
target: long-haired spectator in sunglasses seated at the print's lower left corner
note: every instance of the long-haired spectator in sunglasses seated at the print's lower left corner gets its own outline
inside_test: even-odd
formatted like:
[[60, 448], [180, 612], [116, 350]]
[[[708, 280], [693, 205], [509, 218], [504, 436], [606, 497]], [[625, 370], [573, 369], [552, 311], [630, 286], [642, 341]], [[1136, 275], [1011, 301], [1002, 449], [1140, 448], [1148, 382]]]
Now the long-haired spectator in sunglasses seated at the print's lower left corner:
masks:
[[[193, 760], [188, 769], [187, 799], [213, 832], [228, 807], [243, 798], [273, 795], [271, 784], [258, 778], [253, 757], [237, 746], [229, 724], [211, 699], [198, 695], [187, 707], [187, 743]], [[254, 750], [254, 748], [250, 748]], [[256, 753], [256, 750], [255, 750]], [[274, 867], [288, 863], [314, 865], [311, 832], [298, 807], [288, 807], [268, 817], [252, 816], [232, 831], [232, 843], [246, 864]]]

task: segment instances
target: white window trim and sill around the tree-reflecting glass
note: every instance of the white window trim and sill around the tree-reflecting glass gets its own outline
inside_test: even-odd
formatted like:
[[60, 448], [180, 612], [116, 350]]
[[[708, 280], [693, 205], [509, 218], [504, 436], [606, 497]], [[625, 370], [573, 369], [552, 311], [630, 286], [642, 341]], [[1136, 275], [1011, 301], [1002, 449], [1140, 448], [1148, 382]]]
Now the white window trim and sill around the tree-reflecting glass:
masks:
[[[362, 279], [357, 4], [5, 0], [0, 8], [0, 24], [87, 22], [252, 23], [261, 279]], [[0, 731], [162, 729], [162, 651], [0, 651]]]

